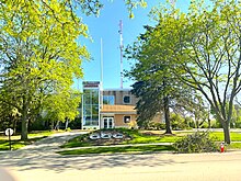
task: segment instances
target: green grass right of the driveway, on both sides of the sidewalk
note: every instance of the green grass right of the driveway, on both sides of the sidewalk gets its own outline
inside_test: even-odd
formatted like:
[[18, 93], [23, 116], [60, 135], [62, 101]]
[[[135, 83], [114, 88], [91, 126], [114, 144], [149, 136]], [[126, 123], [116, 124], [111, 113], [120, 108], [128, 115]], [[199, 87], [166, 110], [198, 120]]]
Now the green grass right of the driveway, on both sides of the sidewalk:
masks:
[[[111, 131], [95, 131], [100, 132], [111, 132]], [[81, 135], [73, 139], [70, 139], [67, 144], [61, 146], [62, 148], [73, 148], [73, 147], [91, 147], [91, 146], [105, 146], [105, 147], [92, 147], [92, 148], [79, 148], [72, 150], [58, 151], [60, 155], [88, 155], [88, 154], [116, 154], [116, 152], [153, 152], [153, 151], [174, 151], [174, 148], [170, 145], [135, 145], [135, 144], [154, 144], [154, 143], [174, 143], [177, 139], [186, 136], [187, 134], [193, 134], [194, 132], [173, 132], [173, 135], [164, 135], [163, 132], [151, 132], [151, 131], [133, 131], [125, 128], [113, 129], [112, 132], [122, 133], [124, 136], [117, 143], [113, 143], [114, 138], [111, 139], [97, 139], [91, 140], [89, 138], [90, 134]], [[241, 142], [241, 133], [232, 132], [231, 140]], [[220, 143], [223, 140], [222, 132], [210, 132], [210, 137], [215, 142]], [[111, 145], [118, 145], [117, 147], [111, 147]], [[126, 146], [125, 146], [126, 145]], [[128, 146], [127, 146], [128, 145]], [[131, 146], [129, 146], [131, 145]], [[106, 147], [110, 146], [110, 147]], [[241, 143], [232, 143], [226, 146], [226, 150], [230, 149], [241, 149]]]

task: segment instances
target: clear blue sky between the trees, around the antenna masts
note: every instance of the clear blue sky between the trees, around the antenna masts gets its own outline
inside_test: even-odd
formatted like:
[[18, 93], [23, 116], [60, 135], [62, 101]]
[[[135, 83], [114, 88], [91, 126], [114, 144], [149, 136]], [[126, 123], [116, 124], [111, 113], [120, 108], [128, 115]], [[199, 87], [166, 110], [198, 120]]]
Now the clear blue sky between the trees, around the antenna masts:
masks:
[[[136, 37], [144, 33], [144, 25], [153, 24], [154, 22], [148, 18], [151, 8], [165, 2], [165, 0], [147, 0], [148, 8], [138, 8], [134, 10], [135, 18], [129, 19], [128, 12], [123, 0], [114, 0], [106, 3], [101, 11], [99, 18], [82, 16], [83, 22], [89, 26], [90, 39], [80, 38], [81, 45], [85, 45], [93, 58], [90, 61], [83, 63], [84, 77], [81, 80], [76, 80], [74, 87], [81, 90], [82, 80], [100, 81], [101, 80], [101, 38], [103, 41], [103, 88], [117, 89], [120, 88], [120, 53], [119, 53], [119, 20], [123, 21], [123, 43], [124, 48], [134, 43]], [[180, 0], [176, 7], [186, 10], [190, 0]], [[130, 68], [129, 63], [124, 58], [124, 70]], [[124, 88], [130, 88], [134, 82], [128, 78], [124, 78]]]

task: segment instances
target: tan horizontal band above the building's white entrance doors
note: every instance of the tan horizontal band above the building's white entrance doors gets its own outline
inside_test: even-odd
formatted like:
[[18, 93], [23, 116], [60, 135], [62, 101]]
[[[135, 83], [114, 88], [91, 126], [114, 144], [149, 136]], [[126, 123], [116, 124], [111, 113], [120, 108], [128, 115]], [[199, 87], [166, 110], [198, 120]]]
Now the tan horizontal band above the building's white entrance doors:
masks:
[[106, 105], [101, 109], [101, 113], [129, 113], [136, 114], [135, 105]]

